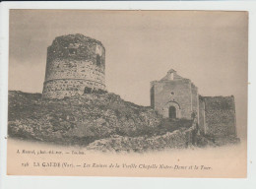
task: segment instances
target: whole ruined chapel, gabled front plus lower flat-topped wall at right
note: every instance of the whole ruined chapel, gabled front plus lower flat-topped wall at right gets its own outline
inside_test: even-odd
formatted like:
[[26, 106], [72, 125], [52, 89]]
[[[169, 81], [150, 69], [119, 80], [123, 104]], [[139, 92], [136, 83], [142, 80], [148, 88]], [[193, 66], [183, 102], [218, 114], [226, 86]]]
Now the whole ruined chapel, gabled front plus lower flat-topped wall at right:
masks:
[[198, 88], [171, 69], [160, 81], [151, 82], [151, 106], [163, 118], [195, 117], [202, 134], [236, 137], [235, 103], [230, 96], [202, 96]]

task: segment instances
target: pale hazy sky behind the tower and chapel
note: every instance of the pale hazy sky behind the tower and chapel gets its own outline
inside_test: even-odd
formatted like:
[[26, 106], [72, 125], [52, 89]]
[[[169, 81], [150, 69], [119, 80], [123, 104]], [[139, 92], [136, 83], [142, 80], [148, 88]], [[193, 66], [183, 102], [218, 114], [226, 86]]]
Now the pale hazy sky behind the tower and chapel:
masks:
[[41, 93], [47, 46], [70, 33], [104, 45], [108, 92], [150, 105], [150, 82], [174, 69], [200, 95], [234, 95], [237, 132], [246, 136], [246, 12], [11, 10], [9, 90]]

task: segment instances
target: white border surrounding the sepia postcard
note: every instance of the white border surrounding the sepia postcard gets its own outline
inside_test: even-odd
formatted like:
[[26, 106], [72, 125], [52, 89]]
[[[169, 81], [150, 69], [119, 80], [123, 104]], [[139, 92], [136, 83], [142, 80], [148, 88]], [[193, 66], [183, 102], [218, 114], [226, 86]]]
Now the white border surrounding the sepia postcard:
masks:
[[[0, 4], [0, 188], [256, 188], [256, 2], [3, 2]], [[47, 177], [7, 176], [7, 96], [8, 96], [8, 38], [9, 9], [105, 9], [105, 10], [224, 10], [249, 12], [249, 103], [248, 103], [248, 178], [189, 179], [189, 178], [125, 178], [125, 177]], [[255, 82], [255, 83], [254, 83]]]

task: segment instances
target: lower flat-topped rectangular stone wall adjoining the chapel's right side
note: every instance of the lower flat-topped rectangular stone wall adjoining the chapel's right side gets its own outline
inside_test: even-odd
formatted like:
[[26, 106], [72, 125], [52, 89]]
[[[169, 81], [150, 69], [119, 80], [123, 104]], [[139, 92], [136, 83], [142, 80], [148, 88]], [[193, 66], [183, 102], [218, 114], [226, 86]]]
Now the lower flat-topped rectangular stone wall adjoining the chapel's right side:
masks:
[[[224, 137], [236, 136], [236, 118], [234, 97], [202, 96], [200, 97], [200, 128], [205, 134]], [[203, 124], [205, 123], [205, 124]]]

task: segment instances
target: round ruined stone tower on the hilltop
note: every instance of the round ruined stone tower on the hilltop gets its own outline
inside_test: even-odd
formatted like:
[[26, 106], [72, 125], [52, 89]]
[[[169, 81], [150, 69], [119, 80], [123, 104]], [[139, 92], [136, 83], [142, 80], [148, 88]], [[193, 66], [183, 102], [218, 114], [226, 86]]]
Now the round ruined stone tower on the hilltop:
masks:
[[105, 91], [105, 49], [83, 34], [56, 37], [47, 48], [43, 98]]

